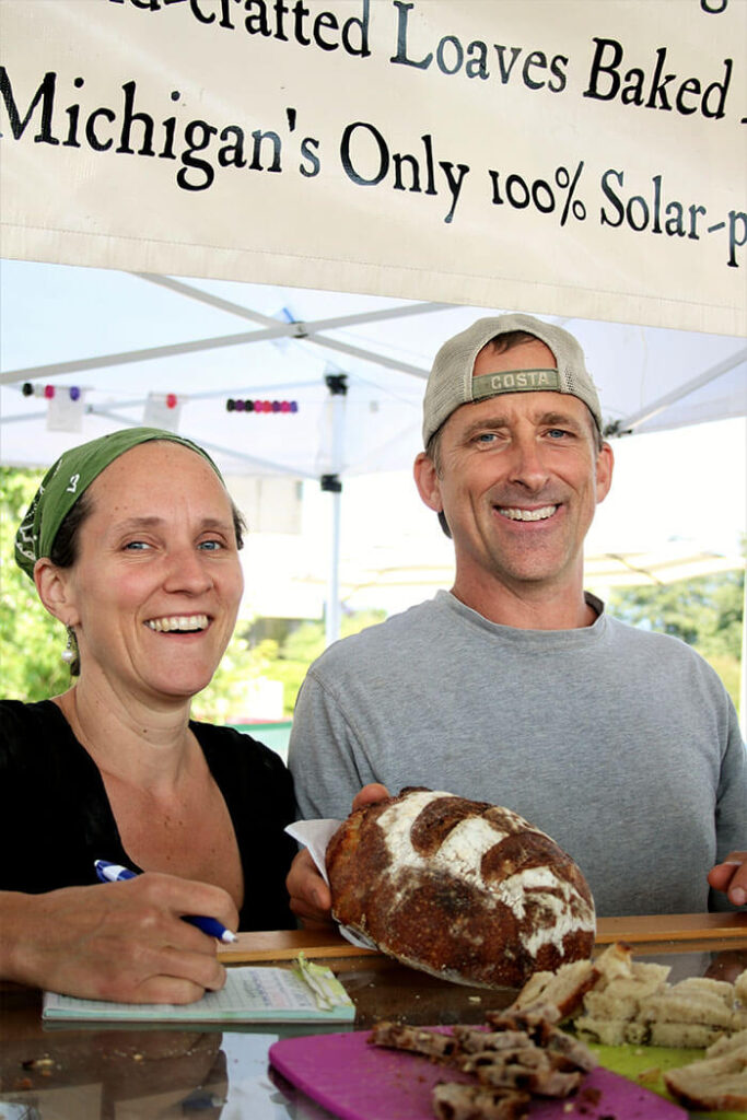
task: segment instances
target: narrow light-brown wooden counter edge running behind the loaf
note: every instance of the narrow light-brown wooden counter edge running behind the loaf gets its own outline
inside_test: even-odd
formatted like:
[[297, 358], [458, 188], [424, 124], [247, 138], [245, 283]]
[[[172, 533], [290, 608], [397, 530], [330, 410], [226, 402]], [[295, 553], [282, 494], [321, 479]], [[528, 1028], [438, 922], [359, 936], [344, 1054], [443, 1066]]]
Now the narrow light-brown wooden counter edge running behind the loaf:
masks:
[[[653, 942], [744, 941], [747, 945], [747, 912], [728, 914], [653, 914], [597, 920], [597, 945], [625, 941], [636, 945]], [[222, 945], [224, 963], [281, 961], [298, 956], [377, 956], [374, 949], [360, 949], [332, 930], [263, 930], [240, 933], [232, 945]]]

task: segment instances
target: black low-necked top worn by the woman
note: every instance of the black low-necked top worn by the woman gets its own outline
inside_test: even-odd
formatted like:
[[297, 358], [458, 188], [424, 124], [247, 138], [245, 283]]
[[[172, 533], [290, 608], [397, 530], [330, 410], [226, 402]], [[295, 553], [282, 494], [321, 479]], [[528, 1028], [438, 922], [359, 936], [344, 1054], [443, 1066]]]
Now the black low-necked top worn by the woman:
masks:
[[[269, 747], [190, 721], [236, 833], [240, 930], [290, 930], [286, 875], [297, 848], [292, 778]], [[97, 883], [94, 860], [141, 870], [122, 847], [97, 766], [52, 700], [0, 701], [0, 889], [41, 894]]]

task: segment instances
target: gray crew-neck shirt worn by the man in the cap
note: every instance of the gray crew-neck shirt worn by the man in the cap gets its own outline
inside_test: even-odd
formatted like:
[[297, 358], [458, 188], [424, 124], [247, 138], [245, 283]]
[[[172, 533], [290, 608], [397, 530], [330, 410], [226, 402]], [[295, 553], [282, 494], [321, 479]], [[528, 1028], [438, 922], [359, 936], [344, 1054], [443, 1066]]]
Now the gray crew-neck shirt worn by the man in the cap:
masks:
[[576, 859], [600, 915], [729, 908], [706, 876], [747, 848], [747, 753], [718, 675], [604, 613], [514, 629], [439, 591], [315, 662], [289, 765], [302, 816], [346, 816], [366, 782], [506, 805]]

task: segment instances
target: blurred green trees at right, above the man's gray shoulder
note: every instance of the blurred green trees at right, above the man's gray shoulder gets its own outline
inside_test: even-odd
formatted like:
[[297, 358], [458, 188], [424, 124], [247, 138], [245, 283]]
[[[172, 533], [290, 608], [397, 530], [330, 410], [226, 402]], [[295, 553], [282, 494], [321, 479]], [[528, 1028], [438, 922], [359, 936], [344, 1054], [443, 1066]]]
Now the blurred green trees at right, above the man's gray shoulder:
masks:
[[744, 588], [744, 571], [718, 572], [615, 591], [608, 609], [633, 626], [672, 634], [693, 646], [738, 706]]

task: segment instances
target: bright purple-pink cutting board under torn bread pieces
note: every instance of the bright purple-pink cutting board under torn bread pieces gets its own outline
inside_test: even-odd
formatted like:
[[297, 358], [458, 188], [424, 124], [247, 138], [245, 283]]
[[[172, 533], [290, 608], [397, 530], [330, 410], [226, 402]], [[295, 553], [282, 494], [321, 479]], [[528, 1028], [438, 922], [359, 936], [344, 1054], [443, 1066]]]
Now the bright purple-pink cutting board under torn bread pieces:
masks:
[[[342, 1120], [433, 1120], [438, 1081], [470, 1080], [427, 1058], [371, 1046], [368, 1030], [284, 1038], [270, 1047], [279, 1073]], [[598, 1094], [598, 1095], [597, 1095]], [[566, 1111], [569, 1103], [571, 1111]], [[535, 1100], [531, 1120], [687, 1120], [671, 1101], [620, 1077], [594, 1070], [576, 1096]]]

